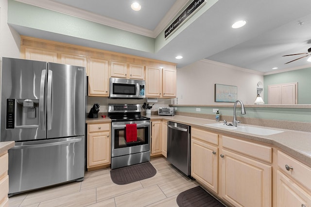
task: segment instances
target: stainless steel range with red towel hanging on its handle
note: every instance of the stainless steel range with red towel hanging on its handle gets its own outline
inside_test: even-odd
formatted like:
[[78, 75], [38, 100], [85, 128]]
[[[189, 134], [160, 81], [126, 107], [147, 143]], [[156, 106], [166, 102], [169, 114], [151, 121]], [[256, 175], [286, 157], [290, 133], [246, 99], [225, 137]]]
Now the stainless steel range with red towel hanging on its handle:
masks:
[[111, 169], [150, 161], [150, 118], [139, 104], [109, 104]]

